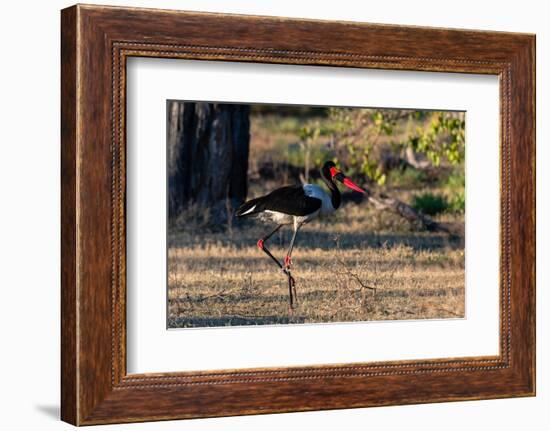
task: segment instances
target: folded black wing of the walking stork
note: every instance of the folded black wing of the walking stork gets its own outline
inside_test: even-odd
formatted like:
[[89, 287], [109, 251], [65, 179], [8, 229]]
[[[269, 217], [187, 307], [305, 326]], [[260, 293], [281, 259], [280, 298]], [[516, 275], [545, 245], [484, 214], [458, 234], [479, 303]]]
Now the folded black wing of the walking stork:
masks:
[[242, 204], [237, 216], [249, 216], [263, 211], [277, 211], [294, 216], [306, 216], [321, 208], [321, 200], [308, 196], [301, 185], [285, 186]]

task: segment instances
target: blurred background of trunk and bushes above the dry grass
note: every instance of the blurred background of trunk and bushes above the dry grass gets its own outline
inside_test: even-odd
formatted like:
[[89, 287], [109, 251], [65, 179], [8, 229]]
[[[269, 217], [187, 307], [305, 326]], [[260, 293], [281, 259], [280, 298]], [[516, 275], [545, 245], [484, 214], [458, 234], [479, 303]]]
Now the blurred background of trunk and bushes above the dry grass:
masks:
[[195, 204], [219, 227], [247, 197], [319, 182], [326, 160], [423, 214], [464, 213], [463, 112], [179, 101], [168, 112], [172, 224]]

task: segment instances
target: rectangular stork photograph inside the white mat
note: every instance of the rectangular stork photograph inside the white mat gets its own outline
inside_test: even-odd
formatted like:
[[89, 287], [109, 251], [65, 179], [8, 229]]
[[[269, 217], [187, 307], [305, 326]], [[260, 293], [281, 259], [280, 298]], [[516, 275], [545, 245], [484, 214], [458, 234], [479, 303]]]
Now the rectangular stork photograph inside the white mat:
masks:
[[465, 317], [465, 112], [166, 110], [167, 328]]

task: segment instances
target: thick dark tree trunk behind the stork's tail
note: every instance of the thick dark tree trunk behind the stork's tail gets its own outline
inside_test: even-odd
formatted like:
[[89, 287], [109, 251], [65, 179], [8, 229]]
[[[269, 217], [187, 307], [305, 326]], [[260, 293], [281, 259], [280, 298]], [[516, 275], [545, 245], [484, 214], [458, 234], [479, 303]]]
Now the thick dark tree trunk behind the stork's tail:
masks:
[[212, 221], [246, 198], [250, 144], [248, 105], [170, 101], [168, 211], [175, 220], [189, 203], [208, 208]]

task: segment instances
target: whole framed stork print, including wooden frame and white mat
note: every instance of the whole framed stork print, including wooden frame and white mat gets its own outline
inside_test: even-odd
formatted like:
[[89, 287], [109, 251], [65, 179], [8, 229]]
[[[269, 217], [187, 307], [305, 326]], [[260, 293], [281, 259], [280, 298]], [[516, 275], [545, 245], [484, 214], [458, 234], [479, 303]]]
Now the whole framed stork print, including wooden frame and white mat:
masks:
[[535, 37], [62, 11], [62, 419], [535, 394]]

